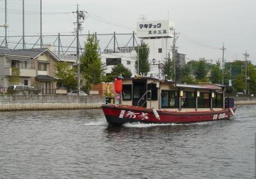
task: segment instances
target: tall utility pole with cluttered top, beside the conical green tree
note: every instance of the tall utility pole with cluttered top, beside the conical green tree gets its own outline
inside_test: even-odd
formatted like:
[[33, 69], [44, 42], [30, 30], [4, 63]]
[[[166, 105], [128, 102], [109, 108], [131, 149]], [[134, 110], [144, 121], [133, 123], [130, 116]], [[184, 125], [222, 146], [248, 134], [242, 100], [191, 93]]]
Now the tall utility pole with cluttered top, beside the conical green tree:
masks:
[[[80, 53], [80, 45], [79, 45], [79, 31], [82, 30], [82, 22], [85, 19], [85, 13], [86, 11], [79, 11], [77, 5], [77, 9], [75, 12], [72, 13], [76, 13], [76, 63], [77, 63], [77, 87], [78, 87], [78, 95], [80, 93], [80, 60], [79, 60], [79, 53]], [[82, 20], [81, 20], [82, 19]]]

